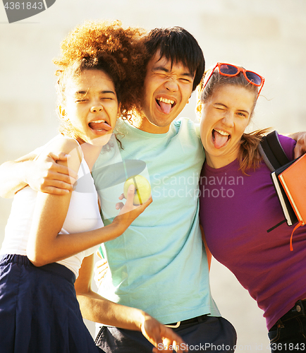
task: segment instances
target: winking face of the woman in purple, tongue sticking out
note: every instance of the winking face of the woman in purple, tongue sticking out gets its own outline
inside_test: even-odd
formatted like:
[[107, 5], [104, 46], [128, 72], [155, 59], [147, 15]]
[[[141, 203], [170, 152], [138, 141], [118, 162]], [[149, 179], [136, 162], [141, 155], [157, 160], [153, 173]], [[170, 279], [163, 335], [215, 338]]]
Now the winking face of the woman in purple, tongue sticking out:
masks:
[[222, 85], [202, 105], [201, 140], [207, 163], [224, 167], [238, 157], [240, 139], [254, 109], [254, 92], [237, 85]]

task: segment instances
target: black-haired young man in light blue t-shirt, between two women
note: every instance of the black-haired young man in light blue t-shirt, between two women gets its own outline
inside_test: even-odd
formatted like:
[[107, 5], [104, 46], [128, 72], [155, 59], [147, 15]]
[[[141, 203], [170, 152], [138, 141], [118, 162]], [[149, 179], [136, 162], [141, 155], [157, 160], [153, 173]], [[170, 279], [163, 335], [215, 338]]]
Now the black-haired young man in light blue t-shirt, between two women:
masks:
[[[207, 351], [223, 345], [221, 351], [229, 352], [235, 330], [220, 317], [211, 297], [198, 219], [204, 152], [195, 124], [174, 121], [200, 83], [204, 57], [183, 28], [152, 30], [146, 43], [150, 59], [142, 109], [132, 121], [118, 121], [122, 148], [99, 155], [92, 176], [105, 224], [114, 217], [111, 210], [122, 193], [122, 186], [104, 188], [101, 171], [109, 163], [145, 162], [141, 174], [150, 181], [153, 203], [121, 239], [103, 245], [110, 270], [99, 294], [145, 310], [173, 327], [188, 345]], [[97, 342], [106, 352], [152, 350], [139, 333], [106, 326], [100, 328]]]

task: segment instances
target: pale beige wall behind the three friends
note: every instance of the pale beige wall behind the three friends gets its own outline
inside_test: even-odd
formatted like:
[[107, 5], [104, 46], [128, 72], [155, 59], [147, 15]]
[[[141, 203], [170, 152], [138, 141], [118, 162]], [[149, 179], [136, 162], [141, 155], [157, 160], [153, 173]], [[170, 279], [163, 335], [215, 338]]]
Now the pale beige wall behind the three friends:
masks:
[[[147, 30], [180, 25], [216, 61], [260, 73], [266, 84], [252, 128], [306, 130], [304, 0], [56, 0], [47, 11], [8, 23], [0, 5], [0, 162], [25, 155], [56, 134], [54, 65], [59, 43], [86, 19], [119, 19]], [[195, 117], [195, 97], [182, 116]], [[11, 200], [0, 199], [0, 244]], [[235, 325], [239, 351], [269, 351], [262, 311], [216, 261], [212, 292]], [[94, 335], [92, 324], [87, 323]]]

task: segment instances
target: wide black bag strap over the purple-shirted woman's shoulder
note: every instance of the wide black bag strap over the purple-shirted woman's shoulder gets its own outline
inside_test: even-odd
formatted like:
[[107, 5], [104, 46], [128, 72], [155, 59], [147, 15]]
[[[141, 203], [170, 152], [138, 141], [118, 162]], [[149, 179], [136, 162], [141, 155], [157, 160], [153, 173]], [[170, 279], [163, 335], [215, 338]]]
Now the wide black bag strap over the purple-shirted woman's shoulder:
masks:
[[259, 145], [259, 152], [271, 172], [274, 172], [275, 169], [278, 169], [289, 162], [288, 157], [279, 142], [279, 134], [277, 131], [272, 131], [262, 138]]

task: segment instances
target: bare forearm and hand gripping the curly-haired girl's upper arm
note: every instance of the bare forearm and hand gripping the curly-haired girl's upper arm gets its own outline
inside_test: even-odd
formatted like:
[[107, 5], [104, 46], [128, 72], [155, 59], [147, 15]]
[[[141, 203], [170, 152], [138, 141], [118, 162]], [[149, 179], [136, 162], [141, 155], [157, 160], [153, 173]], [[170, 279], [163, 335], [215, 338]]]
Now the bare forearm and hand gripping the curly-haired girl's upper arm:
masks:
[[73, 170], [57, 163], [69, 156], [60, 152], [37, 155], [29, 153], [18, 160], [0, 165], [0, 196], [12, 198], [18, 191], [29, 185], [35, 191], [65, 195], [72, 190], [77, 175]]

